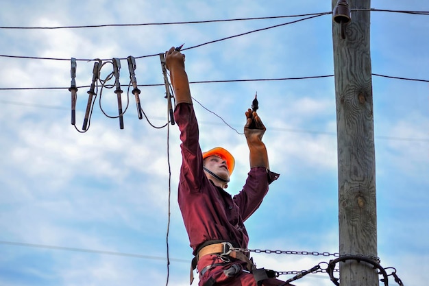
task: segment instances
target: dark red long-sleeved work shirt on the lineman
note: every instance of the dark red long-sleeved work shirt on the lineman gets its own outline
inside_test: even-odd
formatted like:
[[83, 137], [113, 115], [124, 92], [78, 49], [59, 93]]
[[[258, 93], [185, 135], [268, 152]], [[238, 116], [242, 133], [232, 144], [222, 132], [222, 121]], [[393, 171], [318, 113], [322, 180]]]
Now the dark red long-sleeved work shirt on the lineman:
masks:
[[236, 247], [247, 248], [249, 237], [243, 222], [260, 206], [269, 183], [278, 174], [254, 167], [243, 189], [232, 197], [204, 174], [193, 105], [177, 104], [174, 118], [182, 141], [178, 202], [193, 253], [208, 240], [230, 241]]

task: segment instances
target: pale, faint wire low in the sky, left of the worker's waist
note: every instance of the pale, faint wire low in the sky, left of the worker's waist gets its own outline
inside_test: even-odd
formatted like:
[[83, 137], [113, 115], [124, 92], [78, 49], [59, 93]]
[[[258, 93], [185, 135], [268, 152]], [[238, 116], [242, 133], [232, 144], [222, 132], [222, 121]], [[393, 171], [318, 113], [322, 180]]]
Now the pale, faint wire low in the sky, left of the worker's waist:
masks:
[[[134, 258], [138, 258], [138, 259], [165, 260], [164, 257], [155, 257], [155, 256], [151, 256], [151, 255], [133, 254], [133, 253], [125, 253], [125, 252], [114, 252], [114, 251], [106, 251], [106, 250], [93, 250], [93, 249], [86, 249], [86, 248], [70, 248], [70, 247], [65, 247], [65, 246], [48, 246], [45, 244], [36, 244], [36, 243], [0, 241], [0, 244], [9, 245], [9, 246], [26, 246], [26, 247], [30, 247], [30, 248], [45, 248], [45, 249], [53, 249], [53, 250], [87, 252], [87, 253], [95, 253], [95, 254], [114, 255], [114, 256], [120, 256], [120, 257], [134, 257]], [[172, 259], [171, 258], [169, 260], [170, 261], [189, 263], [189, 261], [186, 259]]]

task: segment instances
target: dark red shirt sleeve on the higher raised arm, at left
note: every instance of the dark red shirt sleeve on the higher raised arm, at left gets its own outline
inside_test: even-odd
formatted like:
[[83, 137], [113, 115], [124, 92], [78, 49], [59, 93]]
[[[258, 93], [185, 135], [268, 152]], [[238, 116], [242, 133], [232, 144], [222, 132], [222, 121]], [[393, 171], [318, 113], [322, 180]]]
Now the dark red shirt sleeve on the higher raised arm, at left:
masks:
[[204, 179], [203, 155], [199, 146], [199, 129], [197, 117], [192, 104], [177, 104], [174, 118], [180, 129], [180, 148], [182, 150], [182, 167], [180, 184], [182, 190], [199, 192]]

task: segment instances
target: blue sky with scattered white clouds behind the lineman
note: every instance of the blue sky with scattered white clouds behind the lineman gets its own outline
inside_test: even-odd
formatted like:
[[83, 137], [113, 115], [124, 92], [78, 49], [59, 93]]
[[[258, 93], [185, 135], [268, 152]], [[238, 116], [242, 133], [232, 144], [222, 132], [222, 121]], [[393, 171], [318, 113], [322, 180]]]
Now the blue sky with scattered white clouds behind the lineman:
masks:
[[[47, 2], [4, 0], [0, 10], [0, 286], [157, 286], [166, 285], [167, 274], [169, 285], [188, 285], [192, 250], [177, 206], [179, 132], [177, 125], [166, 126], [158, 53], [184, 43], [191, 82], [333, 75], [332, 15], [215, 43], [209, 42], [303, 17], [10, 27], [288, 16], [330, 12], [331, 1]], [[371, 8], [429, 11], [429, 3], [373, 0]], [[71, 125], [70, 59], [77, 59], [76, 127], [82, 130], [94, 64], [88, 60], [106, 62], [104, 79], [112, 72], [109, 61], [127, 56], [136, 57], [148, 120], [138, 119], [129, 93], [121, 130], [119, 119], [106, 116], [118, 114], [114, 88], [99, 85], [90, 128], [77, 132]], [[371, 12], [372, 73], [423, 80], [372, 78], [378, 257], [404, 285], [425, 285], [429, 278], [428, 62], [428, 16]], [[119, 80], [125, 108], [132, 90], [126, 60]], [[339, 252], [334, 78], [191, 84], [201, 148], [223, 146], [236, 158], [232, 194], [249, 171], [242, 132], [256, 92], [270, 168], [280, 178], [245, 223], [249, 248]], [[252, 257], [258, 267], [279, 272], [334, 259]], [[395, 285], [392, 276], [389, 282]], [[295, 285], [332, 282], [318, 273]]]

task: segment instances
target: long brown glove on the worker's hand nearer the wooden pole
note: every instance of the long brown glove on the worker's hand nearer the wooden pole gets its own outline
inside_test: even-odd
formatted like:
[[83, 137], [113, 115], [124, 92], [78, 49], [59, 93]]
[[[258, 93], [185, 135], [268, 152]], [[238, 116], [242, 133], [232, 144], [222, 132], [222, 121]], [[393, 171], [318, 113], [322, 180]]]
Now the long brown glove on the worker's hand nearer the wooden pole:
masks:
[[[244, 126], [244, 134], [250, 151], [250, 167], [265, 167], [269, 169], [267, 148], [262, 142], [262, 136], [264, 136], [267, 129], [256, 111], [252, 112], [249, 108], [245, 112], [245, 115], [247, 121]], [[250, 126], [252, 128], [249, 128]]]

